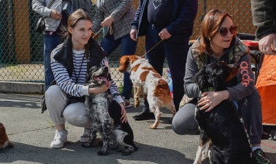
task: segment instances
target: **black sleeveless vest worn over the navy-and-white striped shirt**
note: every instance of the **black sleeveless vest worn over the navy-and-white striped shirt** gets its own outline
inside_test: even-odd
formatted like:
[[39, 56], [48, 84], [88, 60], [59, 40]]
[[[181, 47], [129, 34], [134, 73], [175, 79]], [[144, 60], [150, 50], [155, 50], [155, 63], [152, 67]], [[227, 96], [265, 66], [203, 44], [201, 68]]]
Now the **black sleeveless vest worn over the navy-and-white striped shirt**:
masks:
[[[88, 40], [90, 61], [89, 66], [97, 65], [106, 57], [106, 51], [103, 51], [101, 46], [92, 38]], [[55, 54], [54, 59], [66, 67], [70, 77], [73, 71], [73, 57], [72, 57], [72, 39], [66, 38], [64, 42], [58, 46], [59, 52]], [[88, 67], [89, 68], [89, 67]]]

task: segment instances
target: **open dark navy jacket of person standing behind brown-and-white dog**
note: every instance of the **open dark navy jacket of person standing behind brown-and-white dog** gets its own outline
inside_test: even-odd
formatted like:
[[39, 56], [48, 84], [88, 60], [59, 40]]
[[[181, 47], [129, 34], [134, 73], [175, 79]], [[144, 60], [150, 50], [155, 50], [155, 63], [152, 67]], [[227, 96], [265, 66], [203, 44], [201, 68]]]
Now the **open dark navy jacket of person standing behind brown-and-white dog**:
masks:
[[[132, 21], [132, 29], [138, 30], [138, 36], [146, 35], [148, 27], [147, 19], [148, 0], [140, 0], [135, 19]], [[166, 27], [172, 35], [169, 40], [183, 40], [193, 34], [193, 24], [197, 16], [198, 0], [173, 0], [172, 17], [170, 25]]]

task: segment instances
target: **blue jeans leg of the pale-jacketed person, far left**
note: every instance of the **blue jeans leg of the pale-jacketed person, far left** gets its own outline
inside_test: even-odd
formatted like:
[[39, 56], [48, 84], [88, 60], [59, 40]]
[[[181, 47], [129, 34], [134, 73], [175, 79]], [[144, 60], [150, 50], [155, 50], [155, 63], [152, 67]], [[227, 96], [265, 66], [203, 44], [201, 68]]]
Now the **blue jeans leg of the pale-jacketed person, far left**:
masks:
[[45, 89], [49, 88], [51, 82], [55, 79], [51, 69], [51, 53], [52, 50], [61, 43], [61, 36], [50, 34], [44, 35], [44, 50], [43, 50], [43, 64], [44, 64], [44, 79]]

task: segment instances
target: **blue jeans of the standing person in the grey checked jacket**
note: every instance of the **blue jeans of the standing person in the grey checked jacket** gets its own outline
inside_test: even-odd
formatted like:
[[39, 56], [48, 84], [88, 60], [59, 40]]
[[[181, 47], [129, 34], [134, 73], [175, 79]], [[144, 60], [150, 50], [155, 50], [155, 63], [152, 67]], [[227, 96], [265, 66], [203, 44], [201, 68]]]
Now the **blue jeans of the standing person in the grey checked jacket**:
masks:
[[[113, 35], [109, 35], [106, 38], [101, 40], [101, 47], [104, 51], [108, 53], [108, 56], [117, 49], [117, 47], [121, 44], [121, 56], [126, 55], [134, 55], [136, 51], [137, 42], [130, 38], [129, 34], [118, 38], [117, 40], [114, 39]], [[123, 93], [121, 94], [126, 99], [130, 99], [132, 91], [132, 82], [130, 80], [130, 74], [125, 72], [124, 73], [124, 88]]]

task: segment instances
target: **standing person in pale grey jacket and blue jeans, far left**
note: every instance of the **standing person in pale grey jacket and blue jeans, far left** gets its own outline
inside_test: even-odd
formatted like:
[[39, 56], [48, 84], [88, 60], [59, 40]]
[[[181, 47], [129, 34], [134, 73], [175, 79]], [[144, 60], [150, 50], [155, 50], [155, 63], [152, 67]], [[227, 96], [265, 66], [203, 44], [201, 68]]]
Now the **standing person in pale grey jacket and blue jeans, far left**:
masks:
[[45, 89], [47, 90], [54, 80], [50, 67], [50, 54], [61, 43], [61, 28], [67, 27], [68, 16], [78, 8], [90, 11], [90, 0], [32, 0], [32, 10], [45, 17], [43, 32], [43, 64]]

